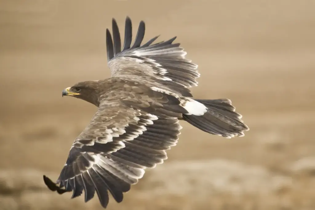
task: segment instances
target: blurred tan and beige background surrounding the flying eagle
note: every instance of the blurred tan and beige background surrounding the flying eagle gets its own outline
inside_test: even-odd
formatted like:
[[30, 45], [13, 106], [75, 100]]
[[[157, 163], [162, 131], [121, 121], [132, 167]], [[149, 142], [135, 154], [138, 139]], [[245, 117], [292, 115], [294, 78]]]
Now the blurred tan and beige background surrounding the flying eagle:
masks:
[[[315, 1], [0, 0], [0, 209], [102, 209], [57, 195], [96, 107], [61, 91], [110, 76], [106, 28], [176, 39], [199, 65], [196, 98], [229, 98], [250, 127], [226, 139], [182, 123], [169, 159], [108, 209], [315, 209]], [[123, 32], [122, 32], [123, 33]]]

